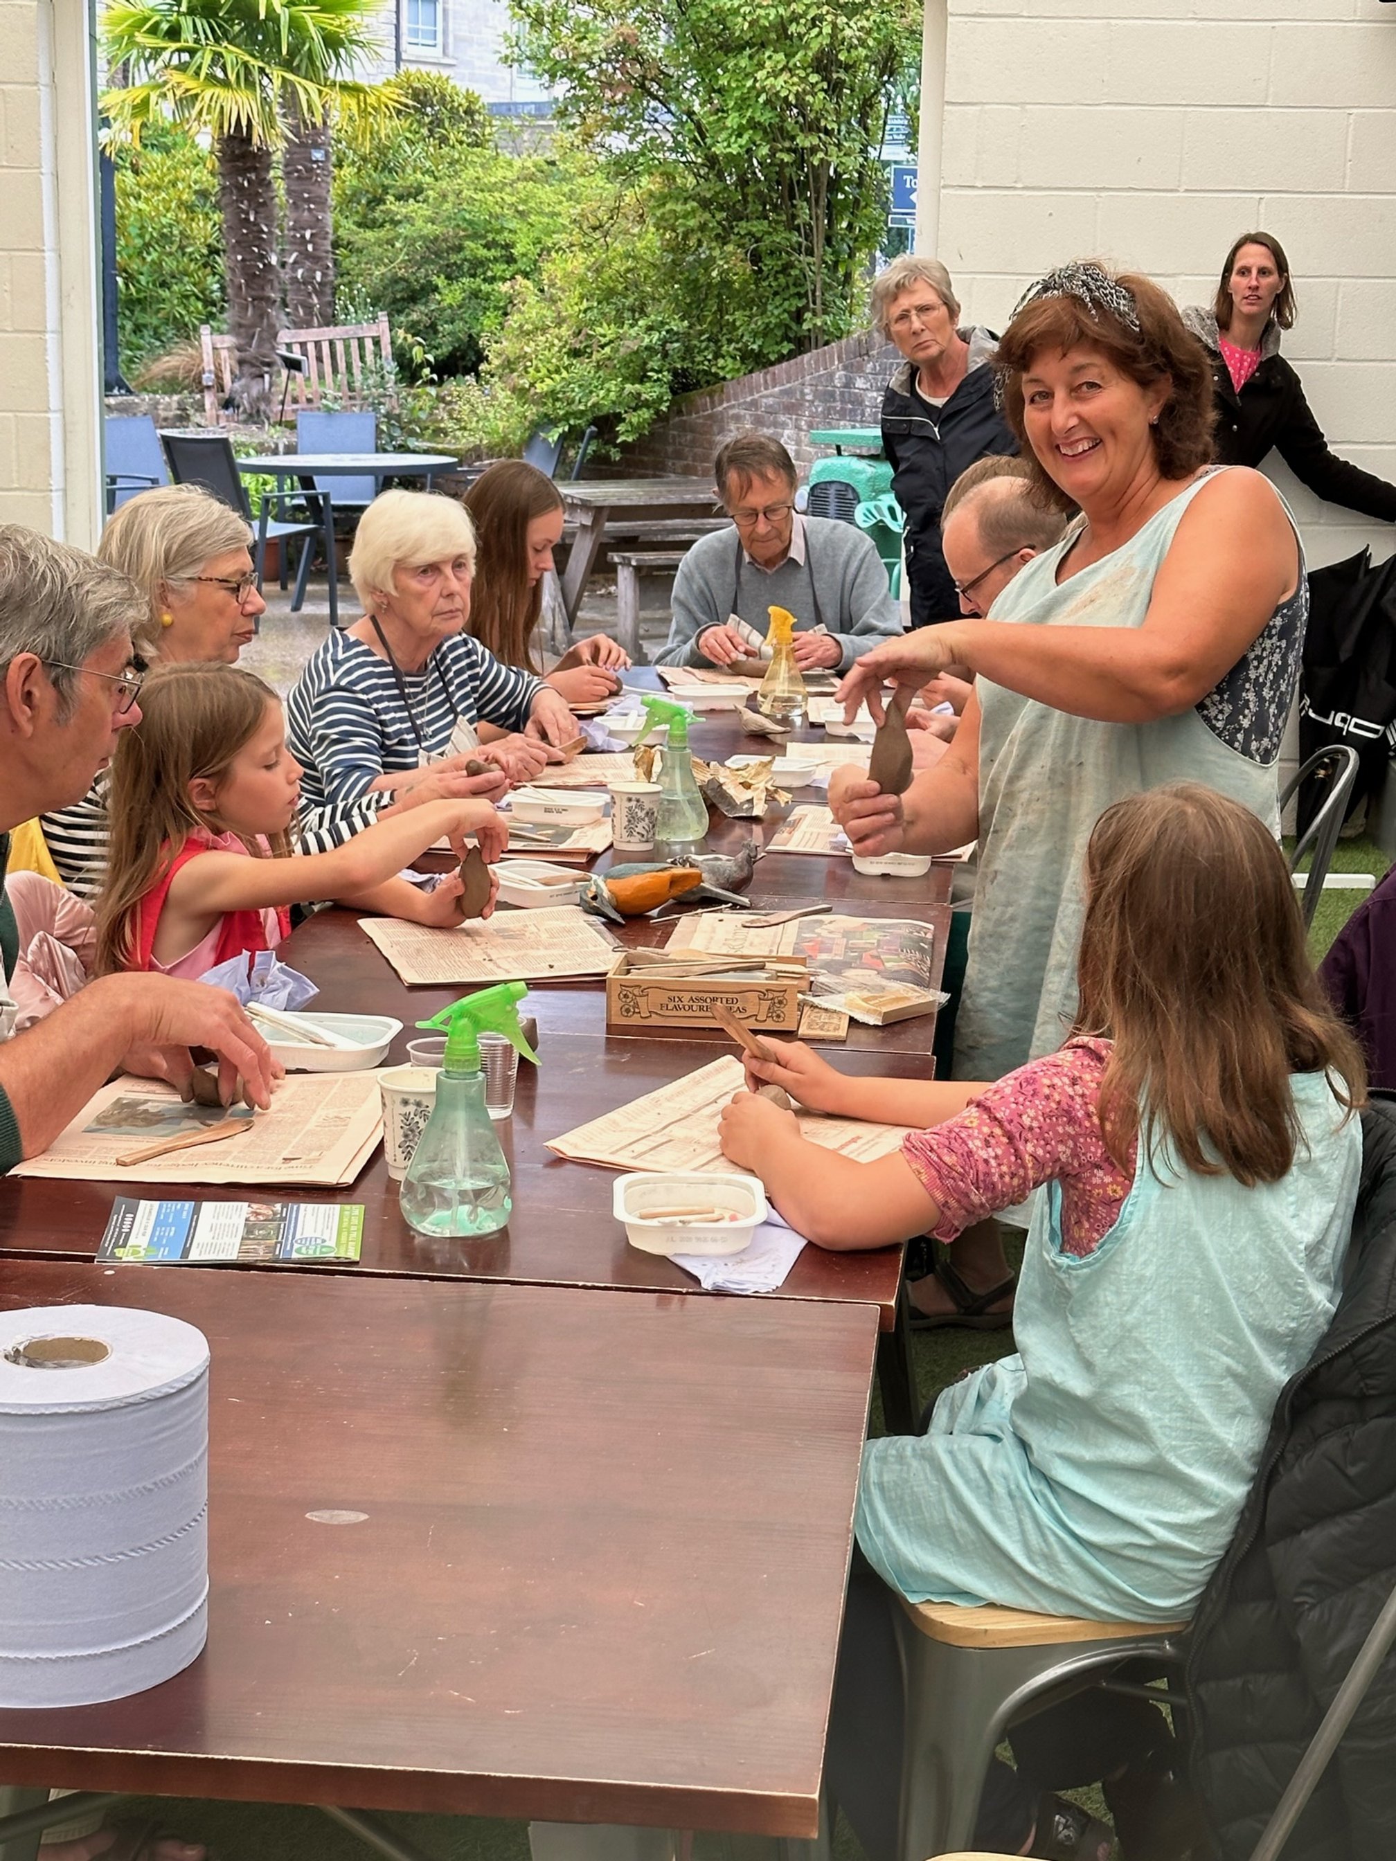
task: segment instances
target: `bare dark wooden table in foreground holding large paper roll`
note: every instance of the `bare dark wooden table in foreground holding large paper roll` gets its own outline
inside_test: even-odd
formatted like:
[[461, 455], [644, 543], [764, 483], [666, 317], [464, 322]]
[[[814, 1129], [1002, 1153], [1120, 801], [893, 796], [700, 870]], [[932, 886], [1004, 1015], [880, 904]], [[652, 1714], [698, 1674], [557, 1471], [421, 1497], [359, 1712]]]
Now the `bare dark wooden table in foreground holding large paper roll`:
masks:
[[9, 1783], [815, 1833], [869, 1308], [0, 1279], [56, 1303], [208, 1336], [210, 1632], [134, 1699], [0, 1712]]

